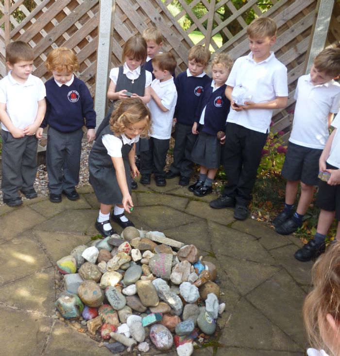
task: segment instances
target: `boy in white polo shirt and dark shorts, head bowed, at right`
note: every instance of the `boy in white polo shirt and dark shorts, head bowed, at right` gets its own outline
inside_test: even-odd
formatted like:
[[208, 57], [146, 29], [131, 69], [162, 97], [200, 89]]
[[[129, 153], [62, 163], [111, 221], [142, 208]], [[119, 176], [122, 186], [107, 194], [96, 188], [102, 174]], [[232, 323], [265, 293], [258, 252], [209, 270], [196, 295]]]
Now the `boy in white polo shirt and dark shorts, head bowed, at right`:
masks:
[[[329, 133], [333, 115], [339, 111], [340, 85], [333, 78], [340, 74], [340, 49], [329, 48], [314, 59], [310, 74], [299, 78], [295, 90], [293, 128], [282, 168], [287, 179], [284, 210], [272, 221], [275, 231], [288, 235], [302, 226], [302, 220], [318, 184], [319, 158]], [[296, 212], [293, 204], [301, 186]]]

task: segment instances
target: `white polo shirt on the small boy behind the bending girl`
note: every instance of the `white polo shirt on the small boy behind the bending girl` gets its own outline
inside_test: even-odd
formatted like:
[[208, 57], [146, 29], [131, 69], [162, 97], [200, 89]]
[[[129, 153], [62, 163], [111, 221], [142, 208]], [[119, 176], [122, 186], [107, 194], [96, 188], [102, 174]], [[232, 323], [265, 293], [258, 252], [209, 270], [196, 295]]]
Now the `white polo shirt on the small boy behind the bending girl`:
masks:
[[171, 77], [165, 82], [154, 79], [151, 87], [161, 99], [162, 105], [168, 109], [167, 112], [162, 111], [153, 99], [147, 103], [152, 119], [151, 136], [165, 140], [171, 136], [173, 113], [177, 102], [176, 86], [173, 83], [173, 77]]

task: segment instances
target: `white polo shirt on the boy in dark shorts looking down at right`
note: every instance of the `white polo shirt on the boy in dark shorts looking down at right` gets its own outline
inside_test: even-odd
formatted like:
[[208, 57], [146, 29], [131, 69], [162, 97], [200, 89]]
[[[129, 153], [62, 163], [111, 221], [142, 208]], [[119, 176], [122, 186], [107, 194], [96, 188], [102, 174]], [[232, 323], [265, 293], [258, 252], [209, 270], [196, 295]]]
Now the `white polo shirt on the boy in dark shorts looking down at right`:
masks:
[[293, 128], [289, 141], [303, 147], [323, 150], [328, 133], [328, 114], [336, 114], [340, 104], [340, 84], [330, 80], [313, 85], [310, 74], [299, 78]]

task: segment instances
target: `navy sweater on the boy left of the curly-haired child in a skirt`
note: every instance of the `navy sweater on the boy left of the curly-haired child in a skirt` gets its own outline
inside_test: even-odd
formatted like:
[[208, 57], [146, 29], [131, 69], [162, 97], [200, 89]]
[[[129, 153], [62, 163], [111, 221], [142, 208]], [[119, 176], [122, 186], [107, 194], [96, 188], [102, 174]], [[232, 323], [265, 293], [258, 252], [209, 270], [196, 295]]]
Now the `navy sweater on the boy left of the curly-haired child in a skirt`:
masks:
[[187, 76], [187, 71], [178, 74], [175, 85], [177, 89], [177, 103], [173, 117], [177, 122], [193, 125], [195, 113], [199, 105], [204, 87], [211, 84], [211, 78], [206, 74], [203, 77]]

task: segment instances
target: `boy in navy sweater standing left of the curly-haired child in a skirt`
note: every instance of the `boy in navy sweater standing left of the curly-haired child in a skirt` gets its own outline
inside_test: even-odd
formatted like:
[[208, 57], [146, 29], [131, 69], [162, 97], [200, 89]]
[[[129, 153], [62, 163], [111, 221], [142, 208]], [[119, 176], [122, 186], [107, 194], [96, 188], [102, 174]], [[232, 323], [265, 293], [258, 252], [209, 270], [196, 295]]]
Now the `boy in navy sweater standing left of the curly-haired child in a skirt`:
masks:
[[203, 46], [196, 45], [188, 53], [188, 69], [180, 73], [175, 85], [177, 89], [177, 103], [174, 113], [176, 122], [173, 148], [173, 163], [165, 174], [167, 179], [180, 176], [178, 184], [187, 186], [193, 172], [191, 151], [196, 142], [197, 135], [192, 133], [195, 122], [195, 113], [204, 87], [210, 85], [209, 78], [204, 69], [210, 60], [210, 52]]

